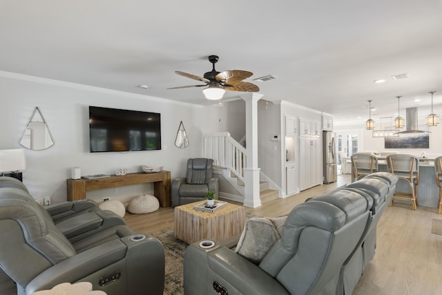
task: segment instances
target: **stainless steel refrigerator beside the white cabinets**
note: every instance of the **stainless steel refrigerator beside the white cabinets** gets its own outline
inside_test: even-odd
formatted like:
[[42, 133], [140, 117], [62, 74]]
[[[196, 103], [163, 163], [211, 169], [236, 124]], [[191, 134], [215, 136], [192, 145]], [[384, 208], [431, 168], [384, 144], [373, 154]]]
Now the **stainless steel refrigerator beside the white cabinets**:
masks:
[[336, 153], [336, 133], [323, 131], [324, 183], [338, 180], [338, 154]]

